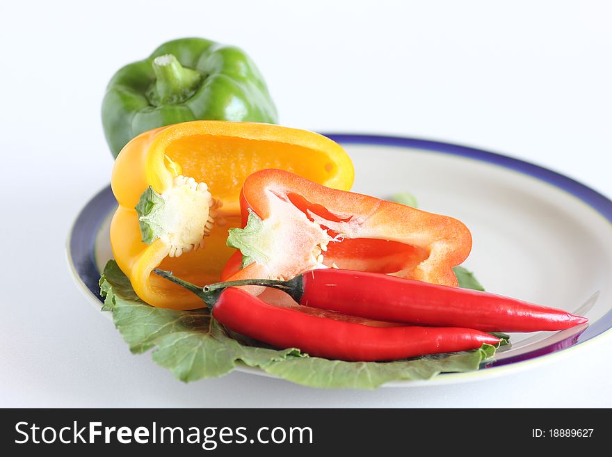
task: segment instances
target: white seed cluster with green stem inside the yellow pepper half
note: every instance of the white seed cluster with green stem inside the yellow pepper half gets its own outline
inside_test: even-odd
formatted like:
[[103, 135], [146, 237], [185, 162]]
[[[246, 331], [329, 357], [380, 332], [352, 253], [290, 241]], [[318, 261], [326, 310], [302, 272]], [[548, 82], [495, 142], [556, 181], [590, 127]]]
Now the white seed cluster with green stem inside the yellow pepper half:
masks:
[[207, 184], [193, 177], [175, 177], [172, 187], [162, 193], [149, 186], [136, 205], [142, 240], [151, 244], [160, 239], [168, 246], [170, 257], [197, 250], [204, 246], [203, 236], [209, 235], [216, 218], [223, 225], [217, 212], [221, 206]]

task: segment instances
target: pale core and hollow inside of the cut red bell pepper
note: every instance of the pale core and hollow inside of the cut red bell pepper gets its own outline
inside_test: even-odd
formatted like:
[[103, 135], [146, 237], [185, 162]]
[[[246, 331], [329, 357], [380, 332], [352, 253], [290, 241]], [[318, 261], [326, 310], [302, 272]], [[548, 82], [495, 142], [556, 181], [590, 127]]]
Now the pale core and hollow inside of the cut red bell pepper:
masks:
[[[323, 218], [295, 203], [293, 198], [272, 198], [271, 205], [277, 210], [271, 211], [271, 216], [261, 220], [248, 209], [245, 227], [230, 229], [227, 245], [241, 250], [242, 268], [257, 262], [266, 267], [271, 278], [279, 280], [316, 268], [405, 276], [428, 257], [428, 252], [418, 246], [361, 237], [359, 225], [351, 222], [353, 216], [327, 211], [328, 217]], [[279, 211], [281, 208], [284, 211]], [[280, 271], [284, 274], [278, 275]]]

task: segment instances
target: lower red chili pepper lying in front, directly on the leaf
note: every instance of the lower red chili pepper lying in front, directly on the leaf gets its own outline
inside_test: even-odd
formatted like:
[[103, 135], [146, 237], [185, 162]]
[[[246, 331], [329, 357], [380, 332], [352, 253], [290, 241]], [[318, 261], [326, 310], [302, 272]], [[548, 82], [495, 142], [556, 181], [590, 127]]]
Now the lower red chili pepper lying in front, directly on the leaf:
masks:
[[469, 328], [371, 327], [312, 316], [269, 305], [236, 287], [213, 284], [202, 289], [167, 271], [154, 271], [202, 298], [214, 318], [230, 330], [272, 346], [296, 347], [317, 357], [360, 362], [399, 360], [499, 343], [499, 338]]

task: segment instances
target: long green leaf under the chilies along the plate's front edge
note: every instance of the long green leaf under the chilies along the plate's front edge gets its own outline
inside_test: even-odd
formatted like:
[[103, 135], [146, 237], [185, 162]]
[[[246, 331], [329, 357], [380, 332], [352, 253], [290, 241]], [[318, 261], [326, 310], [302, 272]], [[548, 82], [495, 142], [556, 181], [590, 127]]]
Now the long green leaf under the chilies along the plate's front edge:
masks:
[[206, 310], [147, 305], [113, 260], [100, 278], [100, 293], [105, 297], [103, 309], [113, 313], [130, 351], [138, 354], [154, 348], [153, 360], [186, 382], [223, 376], [237, 364], [245, 364], [309, 387], [374, 389], [394, 380], [475, 370], [496, 351], [484, 344], [476, 351], [397, 362], [342, 362], [309, 357], [296, 348], [277, 350], [228, 332]]

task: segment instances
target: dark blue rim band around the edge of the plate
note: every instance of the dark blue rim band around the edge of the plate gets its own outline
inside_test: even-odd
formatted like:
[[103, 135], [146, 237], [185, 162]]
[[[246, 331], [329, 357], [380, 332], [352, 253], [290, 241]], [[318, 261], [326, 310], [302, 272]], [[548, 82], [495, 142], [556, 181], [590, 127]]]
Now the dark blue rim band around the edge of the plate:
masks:
[[[443, 141], [434, 141], [424, 138], [410, 138], [404, 136], [387, 136], [378, 134], [346, 134], [346, 133], [329, 133], [323, 134], [328, 138], [336, 141], [340, 145], [343, 144], [360, 144], [360, 145], [383, 145], [391, 147], [407, 147], [410, 149], [426, 150], [454, 156], [467, 157], [485, 163], [492, 163], [503, 168], [515, 170], [524, 175], [535, 177], [543, 182], [547, 182], [558, 189], [561, 189], [570, 195], [581, 200], [589, 207], [595, 209], [598, 214], [612, 223], [612, 200], [595, 191], [594, 189], [582, 184], [575, 179], [549, 170], [543, 166], [536, 165], [528, 161], [509, 157], [504, 154], [490, 152], [488, 150], [478, 149], [466, 145], [456, 143], [446, 143]], [[68, 237], [67, 255], [74, 272], [80, 282], [86, 289], [95, 296], [100, 303], [102, 298], [99, 296], [99, 275], [95, 261], [95, 237], [102, 225], [102, 222], [108, 217], [108, 212], [116, 205], [116, 200], [111, 191], [110, 184], [99, 191], [83, 209], [79, 212], [72, 230]], [[104, 211], [101, 209], [108, 209]], [[588, 326], [577, 334], [570, 335], [567, 339], [561, 342], [556, 342], [548, 346], [540, 347], [515, 355], [503, 360], [493, 360], [486, 364], [485, 369], [492, 367], [500, 367], [506, 364], [516, 364], [534, 358], [540, 358], [543, 355], [558, 353], [563, 349], [582, 344], [594, 337], [603, 335], [612, 330], [612, 310], [607, 312], [598, 319], [595, 323]]]

